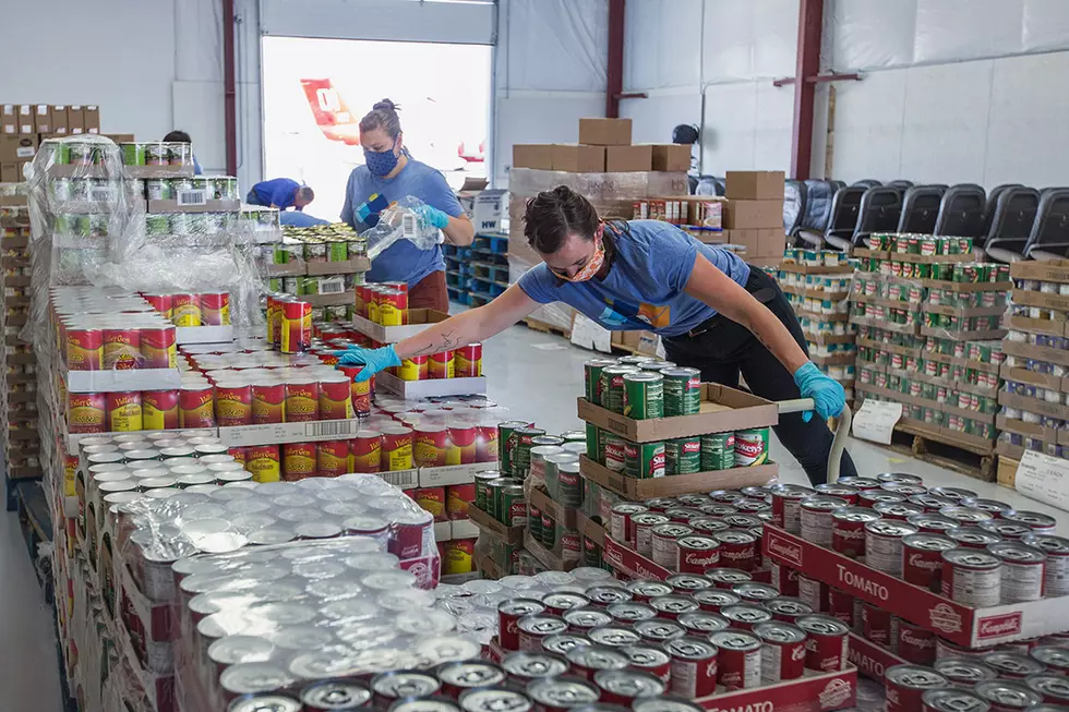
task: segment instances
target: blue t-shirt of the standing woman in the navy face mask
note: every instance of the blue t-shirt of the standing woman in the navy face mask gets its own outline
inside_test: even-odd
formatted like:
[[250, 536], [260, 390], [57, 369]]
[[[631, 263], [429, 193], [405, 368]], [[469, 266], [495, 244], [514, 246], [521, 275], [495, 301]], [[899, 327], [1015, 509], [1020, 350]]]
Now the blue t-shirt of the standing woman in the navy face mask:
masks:
[[[379, 214], [391, 203], [411, 195], [452, 217], [464, 215], [460, 202], [445, 177], [427, 164], [411, 158], [399, 173], [391, 179], [372, 176], [367, 166], [358, 166], [349, 174], [345, 189], [341, 220], [358, 232], [374, 227]], [[375, 257], [368, 273], [370, 281], [405, 281], [415, 285], [434, 271], [445, 270], [442, 248], [420, 250], [409, 240], [398, 240]]]

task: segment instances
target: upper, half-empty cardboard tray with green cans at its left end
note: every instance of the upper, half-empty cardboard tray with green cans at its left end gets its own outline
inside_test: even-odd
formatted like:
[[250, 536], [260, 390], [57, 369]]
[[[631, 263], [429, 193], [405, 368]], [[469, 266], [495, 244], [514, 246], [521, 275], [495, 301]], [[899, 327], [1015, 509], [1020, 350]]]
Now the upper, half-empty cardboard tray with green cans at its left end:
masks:
[[635, 443], [768, 427], [779, 421], [771, 401], [719, 384], [696, 369], [642, 357], [584, 364], [579, 418]]

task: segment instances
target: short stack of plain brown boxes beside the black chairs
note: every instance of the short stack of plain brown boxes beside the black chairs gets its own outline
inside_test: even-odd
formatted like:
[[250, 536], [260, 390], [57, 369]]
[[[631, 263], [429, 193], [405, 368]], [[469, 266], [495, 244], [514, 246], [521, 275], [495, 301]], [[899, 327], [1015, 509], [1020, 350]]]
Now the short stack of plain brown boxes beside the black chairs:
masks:
[[783, 231], [783, 171], [728, 171], [723, 240], [746, 248], [746, 261], [777, 266], [786, 246]]

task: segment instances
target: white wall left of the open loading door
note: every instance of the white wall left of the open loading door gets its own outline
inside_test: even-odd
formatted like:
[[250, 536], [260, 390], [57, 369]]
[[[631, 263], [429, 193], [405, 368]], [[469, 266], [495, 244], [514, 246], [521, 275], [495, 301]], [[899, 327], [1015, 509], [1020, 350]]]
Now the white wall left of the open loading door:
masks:
[[[256, 0], [237, 0], [239, 178], [259, 180], [260, 43]], [[193, 137], [207, 172], [226, 169], [219, 0], [37, 0], [7, 3], [3, 104], [97, 104], [104, 133]]]

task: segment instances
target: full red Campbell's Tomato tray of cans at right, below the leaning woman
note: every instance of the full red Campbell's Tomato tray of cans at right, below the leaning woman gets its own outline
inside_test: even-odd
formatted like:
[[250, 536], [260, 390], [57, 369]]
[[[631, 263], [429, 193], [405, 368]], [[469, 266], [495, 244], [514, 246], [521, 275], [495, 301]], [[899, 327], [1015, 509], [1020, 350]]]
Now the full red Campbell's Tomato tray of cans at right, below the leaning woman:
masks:
[[776, 485], [771, 503], [764, 548], [781, 589], [903, 657], [1069, 629], [1069, 540], [1052, 517], [902, 473]]

